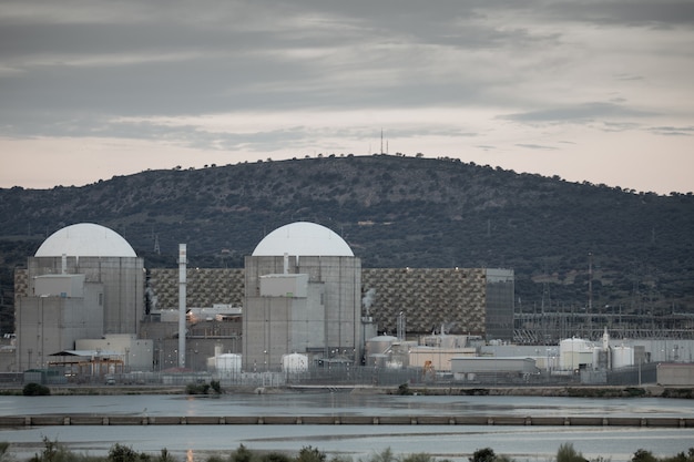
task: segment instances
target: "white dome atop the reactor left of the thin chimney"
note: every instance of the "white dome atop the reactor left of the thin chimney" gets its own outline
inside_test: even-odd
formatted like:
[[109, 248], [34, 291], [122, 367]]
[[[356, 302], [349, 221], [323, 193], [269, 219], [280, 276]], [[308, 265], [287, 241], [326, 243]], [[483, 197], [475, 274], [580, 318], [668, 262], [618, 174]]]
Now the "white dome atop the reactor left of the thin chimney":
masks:
[[136, 257], [120, 234], [93, 223], [65, 226], [41, 244], [34, 257]]

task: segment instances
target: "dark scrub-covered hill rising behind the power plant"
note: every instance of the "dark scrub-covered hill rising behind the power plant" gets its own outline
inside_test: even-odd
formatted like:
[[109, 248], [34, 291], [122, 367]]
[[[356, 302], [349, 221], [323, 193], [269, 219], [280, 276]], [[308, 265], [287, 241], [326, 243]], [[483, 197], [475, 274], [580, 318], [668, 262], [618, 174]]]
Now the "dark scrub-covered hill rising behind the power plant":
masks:
[[[504, 267], [517, 308], [694, 312], [694, 196], [569, 183], [402, 155], [146, 171], [82, 187], [0, 189], [0, 283], [61, 227], [120, 233], [147, 267], [243, 267], [295, 220], [340, 234], [364, 267]], [[159, 250], [159, 251], [157, 251]], [[589, 270], [590, 268], [590, 270]], [[0, 318], [11, 330], [9, 316]]]

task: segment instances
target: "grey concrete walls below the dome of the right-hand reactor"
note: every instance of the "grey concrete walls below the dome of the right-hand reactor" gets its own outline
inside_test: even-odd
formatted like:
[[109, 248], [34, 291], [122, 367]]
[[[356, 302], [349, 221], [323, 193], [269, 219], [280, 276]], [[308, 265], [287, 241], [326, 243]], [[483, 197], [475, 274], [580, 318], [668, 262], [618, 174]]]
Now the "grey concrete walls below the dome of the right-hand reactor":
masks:
[[308, 275], [307, 297], [262, 297], [259, 278], [284, 271], [284, 257], [246, 257], [243, 368], [277, 369], [282, 356], [356, 358], [361, 353], [361, 263], [355, 257], [289, 257]]

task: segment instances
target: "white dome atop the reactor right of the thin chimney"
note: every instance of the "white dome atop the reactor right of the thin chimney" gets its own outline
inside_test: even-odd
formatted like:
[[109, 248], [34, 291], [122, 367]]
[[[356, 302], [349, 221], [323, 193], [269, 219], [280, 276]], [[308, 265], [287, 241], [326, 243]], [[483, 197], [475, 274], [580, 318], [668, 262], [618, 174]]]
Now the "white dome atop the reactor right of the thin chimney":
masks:
[[308, 222], [282, 226], [267, 236], [253, 250], [254, 257], [282, 255], [304, 257], [354, 257], [349, 245], [335, 232]]

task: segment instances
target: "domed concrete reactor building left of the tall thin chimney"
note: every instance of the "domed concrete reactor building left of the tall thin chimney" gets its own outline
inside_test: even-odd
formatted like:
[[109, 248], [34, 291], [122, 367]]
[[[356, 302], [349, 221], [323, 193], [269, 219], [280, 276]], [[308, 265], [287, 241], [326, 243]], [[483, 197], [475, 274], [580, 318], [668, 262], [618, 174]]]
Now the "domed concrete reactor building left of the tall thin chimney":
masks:
[[49, 236], [16, 275], [17, 370], [44, 368], [78, 339], [137, 335], [144, 265], [118, 233], [90, 223]]

